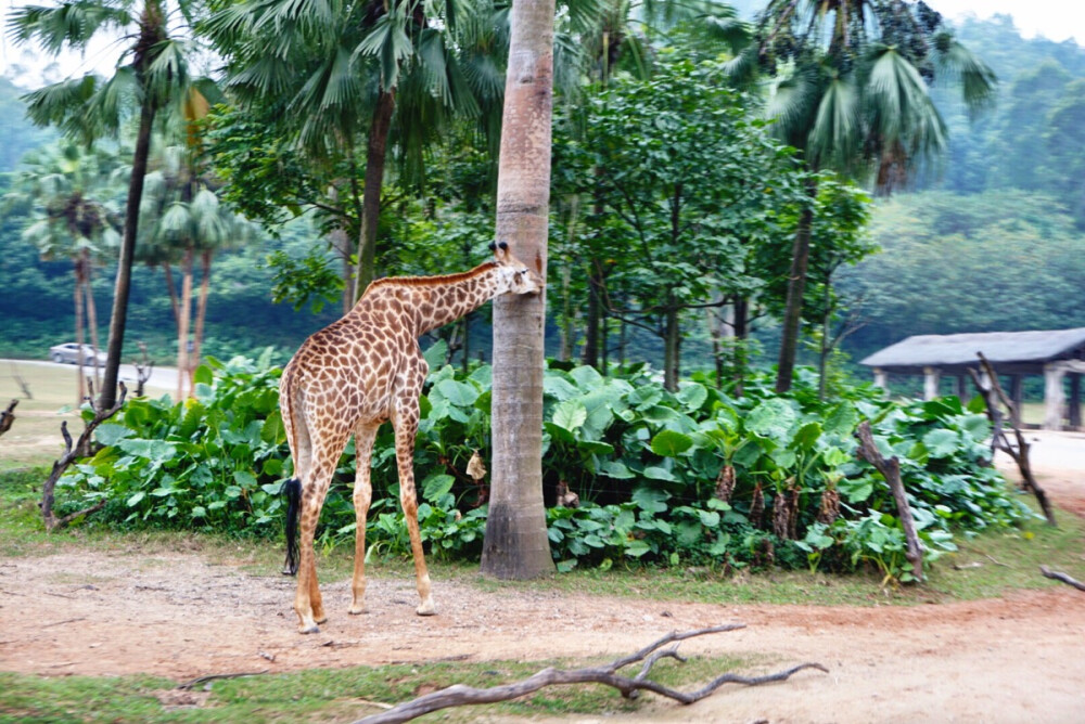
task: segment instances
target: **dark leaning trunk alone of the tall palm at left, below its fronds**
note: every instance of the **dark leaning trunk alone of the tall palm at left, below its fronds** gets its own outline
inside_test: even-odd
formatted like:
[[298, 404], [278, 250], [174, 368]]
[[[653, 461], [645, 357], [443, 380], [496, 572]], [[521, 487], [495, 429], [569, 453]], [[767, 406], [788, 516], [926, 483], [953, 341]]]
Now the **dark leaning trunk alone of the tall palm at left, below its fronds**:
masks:
[[151, 153], [151, 127], [154, 125], [154, 104], [144, 99], [140, 108], [139, 131], [136, 137], [136, 153], [132, 155], [131, 180], [128, 183], [128, 201], [125, 204], [125, 231], [120, 242], [120, 259], [117, 262], [117, 281], [113, 289], [113, 313], [110, 316], [110, 340], [105, 359], [105, 373], [98, 406], [110, 409], [117, 399], [117, 382], [120, 376], [120, 357], [125, 346], [125, 326], [128, 322], [128, 297], [131, 292], [132, 260], [136, 257], [136, 232], [139, 227], [139, 206], [143, 198], [143, 177]]

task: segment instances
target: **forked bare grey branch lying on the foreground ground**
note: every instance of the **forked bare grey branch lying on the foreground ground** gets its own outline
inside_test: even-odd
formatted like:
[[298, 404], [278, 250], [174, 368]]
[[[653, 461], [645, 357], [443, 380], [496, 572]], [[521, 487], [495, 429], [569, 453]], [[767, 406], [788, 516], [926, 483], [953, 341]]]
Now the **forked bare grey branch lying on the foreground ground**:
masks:
[[[373, 714], [359, 720], [355, 724], [392, 724], [394, 722], [407, 722], [423, 714], [448, 709], [450, 707], [462, 707], [468, 704], [494, 703], [497, 701], [508, 701], [516, 699], [526, 694], [537, 691], [545, 686], [557, 684], [604, 684], [612, 686], [622, 693], [626, 698], [636, 698], [640, 691], [653, 691], [681, 703], [693, 703], [707, 697], [724, 684], [742, 684], [744, 686], [758, 686], [771, 682], [782, 682], [792, 674], [803, 669], [817, 669], [828, 673], [828, 669], [820, 663], [801, 663], [799, 665], [765, 676], [740, 676], [738, 674], [726, 673], [712, 680], [709, 684], [694, 691], [679, 691], [668, 686], [664, 686], [648, 678], [648, 674], [656, 661], [663, 658], [685, 661], [678, 655], [677, 646], [663, 649], [667, 644], [685, 641], [694, 636], [703, 636], [712, 633], [723, 633], [744, 629], [744, 623], [732, 623], [728, 625], [714, 626], [711, 629], [700, 629], [697, 631], [672, 632], [653, 644], [617, 659], [601, 667], [588, 667], [585, 669], [563, 670], [547, 668], [528, 676], [527, 678], [502, 686], [489, 688], [475, 688], [456, 684], [439, 691], [433, 691], [417, 699], [405, 701], [388, 711]], [[621, 669], [630, 664], [642, 662], [640, 672], [636, 676], [625, 676], [617, 673]]]

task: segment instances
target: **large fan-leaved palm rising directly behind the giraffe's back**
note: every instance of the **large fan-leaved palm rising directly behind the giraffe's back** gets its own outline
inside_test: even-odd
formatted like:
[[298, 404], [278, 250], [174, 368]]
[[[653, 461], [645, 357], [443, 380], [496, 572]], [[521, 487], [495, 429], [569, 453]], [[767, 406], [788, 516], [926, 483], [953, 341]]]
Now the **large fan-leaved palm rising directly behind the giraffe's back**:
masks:
[[448, 118], [485, 119], [500, 107], [493, 15], [488, 0], [244, 0], [203, 26], [229, 59], [230, 89], [242, 103], [279, 103], [296, 117], [314, 157], [353, 166], [365, 134], [360, 194], [357, 173], [339, 182], [341, 196], [358, 199], [354, 298], [374, 274], [390, 146], [403, 173], [420, 179], [422, 150]]

